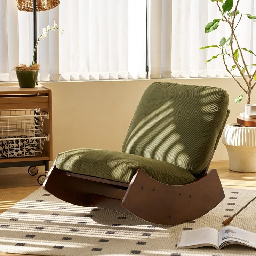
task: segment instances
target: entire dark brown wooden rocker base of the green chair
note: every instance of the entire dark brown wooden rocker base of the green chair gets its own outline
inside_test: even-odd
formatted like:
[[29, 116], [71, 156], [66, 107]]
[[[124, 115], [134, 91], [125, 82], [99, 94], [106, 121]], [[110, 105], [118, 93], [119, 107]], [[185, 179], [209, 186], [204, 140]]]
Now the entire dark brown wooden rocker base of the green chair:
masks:
[[131, 213], [145, 221], [177, 225], [197, 219], [225, 197], [216, 169], [186, 185], [167, 185], [137, 169], [130, 184], [50, 170], [43, 188], [57, 198], [79, 206]]

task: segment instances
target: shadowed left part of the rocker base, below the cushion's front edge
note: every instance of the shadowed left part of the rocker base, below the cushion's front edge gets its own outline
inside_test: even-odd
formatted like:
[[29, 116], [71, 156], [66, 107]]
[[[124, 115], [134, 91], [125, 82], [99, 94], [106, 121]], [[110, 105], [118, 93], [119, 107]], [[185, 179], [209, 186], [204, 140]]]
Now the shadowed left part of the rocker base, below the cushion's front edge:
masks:
[[46, 177], [43, 189], [74, 205], [102, 207], [127, 213], [121, 206], [127, 187], [94, 181], [90, 179], [91, 176], [83, 175], [82, 179], [70, 174], [72, 175], [59, 170], [54, 164]]

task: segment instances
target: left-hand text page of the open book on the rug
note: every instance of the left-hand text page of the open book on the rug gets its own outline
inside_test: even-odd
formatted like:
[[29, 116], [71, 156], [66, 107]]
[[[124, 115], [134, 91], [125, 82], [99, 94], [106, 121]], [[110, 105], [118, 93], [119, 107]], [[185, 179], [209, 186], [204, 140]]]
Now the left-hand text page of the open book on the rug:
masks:
[[191, 247], [194, 245], [214, 245], [219, 247], [219, 232], [211, 227], [182, 231], [178, 247]]

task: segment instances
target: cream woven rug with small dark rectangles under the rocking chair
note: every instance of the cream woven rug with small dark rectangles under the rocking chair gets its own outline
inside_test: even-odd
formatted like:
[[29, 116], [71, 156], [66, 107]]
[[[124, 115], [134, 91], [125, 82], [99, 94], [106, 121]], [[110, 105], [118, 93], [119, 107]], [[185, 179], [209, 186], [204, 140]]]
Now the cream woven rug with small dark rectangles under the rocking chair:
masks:
[[[225, 195], [215, 209], [195, 221], [162, 226], [111, 210], [71, 205], [40, 188], [0, 215], [0, 252], [61, 256], [256, 255], [254, 249], [236, 245], [222, 250], [176, 248], [180, 231], [221, 229], [221, 222], [255, 197], [256, 190], [225, 189]], [[255, 213], [256, 202], [235, 217], [232, 226], [256, 233]]]

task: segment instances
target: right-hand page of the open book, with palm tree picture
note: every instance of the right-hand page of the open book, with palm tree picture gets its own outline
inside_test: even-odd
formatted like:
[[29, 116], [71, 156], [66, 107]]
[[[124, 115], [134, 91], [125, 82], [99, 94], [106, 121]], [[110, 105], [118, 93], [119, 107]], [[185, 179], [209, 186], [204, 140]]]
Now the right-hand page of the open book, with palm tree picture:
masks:
[[238, 242], [256, 247], [256, 234], [238, 227], [224, 227], [219, 231], [219, 245], [226, 242]]

